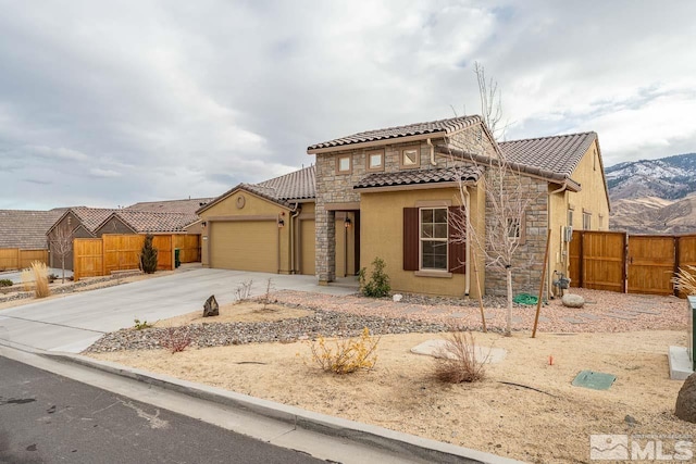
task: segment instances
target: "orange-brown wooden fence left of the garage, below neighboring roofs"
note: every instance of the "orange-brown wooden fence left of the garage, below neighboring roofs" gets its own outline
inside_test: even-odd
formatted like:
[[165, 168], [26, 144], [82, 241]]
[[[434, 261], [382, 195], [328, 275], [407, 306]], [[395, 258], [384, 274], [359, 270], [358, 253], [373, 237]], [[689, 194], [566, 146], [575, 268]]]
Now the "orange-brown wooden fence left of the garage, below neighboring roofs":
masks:
[[[101, 238], [76, 238], [73, 242], [74, 279], [111, 275], [114, 271], [139, 269], [144, 242], [144, 235], [105, 234]], [[158, 250], [158, 271], [174, 268], [177, 248], [182, 263], [200, 261], [199, 235], [156, 235], [152, 246]]]

